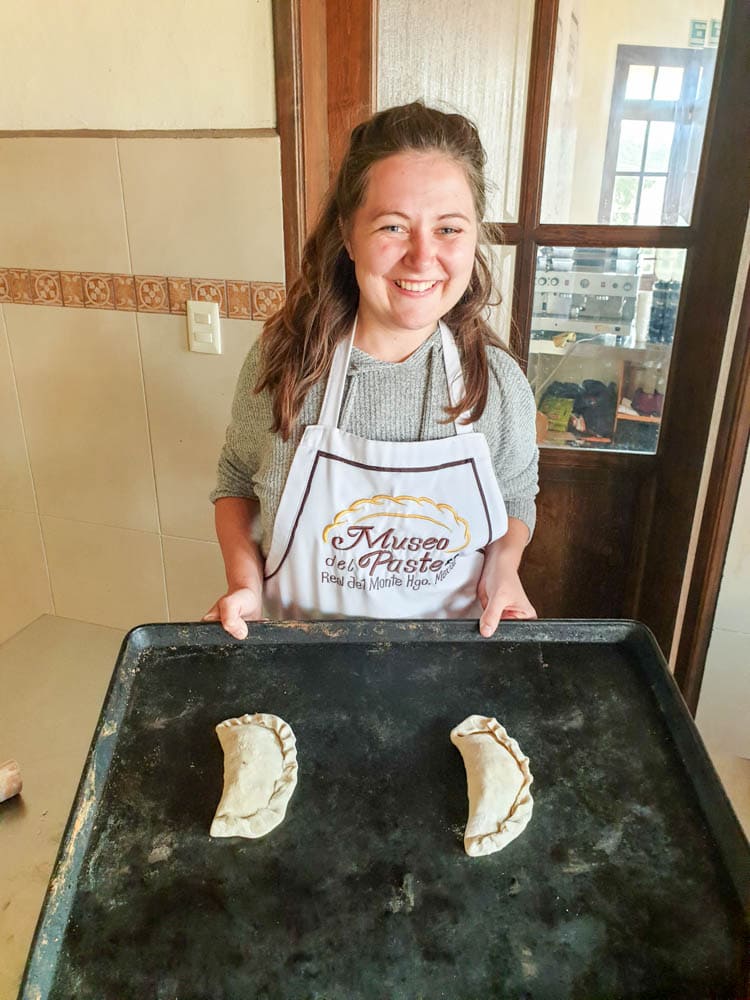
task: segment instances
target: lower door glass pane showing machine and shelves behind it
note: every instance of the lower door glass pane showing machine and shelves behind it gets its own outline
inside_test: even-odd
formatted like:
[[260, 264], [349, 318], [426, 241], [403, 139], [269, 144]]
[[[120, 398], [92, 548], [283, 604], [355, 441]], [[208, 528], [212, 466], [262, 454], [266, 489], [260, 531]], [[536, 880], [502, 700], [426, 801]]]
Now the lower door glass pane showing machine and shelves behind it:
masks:
[[684, 250], [541, 247], [529, 344], [541, 444], [656, 451]]

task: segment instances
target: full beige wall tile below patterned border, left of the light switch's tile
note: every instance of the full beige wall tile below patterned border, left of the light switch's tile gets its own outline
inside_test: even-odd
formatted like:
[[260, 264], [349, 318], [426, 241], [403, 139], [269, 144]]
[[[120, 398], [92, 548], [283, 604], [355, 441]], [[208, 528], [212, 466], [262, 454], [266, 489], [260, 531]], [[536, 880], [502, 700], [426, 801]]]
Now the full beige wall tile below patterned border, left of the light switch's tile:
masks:
[[40, 513], [158, 530], [135, 315], [5, 314]]

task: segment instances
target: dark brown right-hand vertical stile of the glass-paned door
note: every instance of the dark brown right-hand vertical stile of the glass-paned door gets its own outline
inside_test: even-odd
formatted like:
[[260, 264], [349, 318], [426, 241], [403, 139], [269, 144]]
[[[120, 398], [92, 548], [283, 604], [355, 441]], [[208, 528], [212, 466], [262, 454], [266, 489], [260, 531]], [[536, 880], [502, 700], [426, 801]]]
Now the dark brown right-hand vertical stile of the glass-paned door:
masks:
[[[694, 240], [685, 271], [687, 293], [678, 317], [681, 335], [675, 342], [669, 374], [670, 381], [689, 386], [690, 391], [667, 397], [659, 453], [668, 451], [670, 461], [660, 463], [657, 472], [644, 560], [644, 575], [659, 579], [660, 586], [673, 593], [675, 599], [654, 602], [653, 595], [646, 598], [642, 592], [636, 609], [667, 654], [684, 582], [750, 204], [749, 61], [750, 5], [744, 0], [728, 0], [696, 183], [697, 218], [691, 226]], [[733, 407], [736, 403], [736, 398], [727, 397], [727, 405]], [[731, 485], [726, 478], [729, 458], [729, 454], [718, 455], [715, 465], [714, 474], [725, 480], [725, 488]], [[736, 498], [736, 492], [733, 498], [726, 498], [732, 509]], [[696, 564], [689, 585], [704, 592], [706, 608], [715, 608], [718, 581], [711, 583], [705, 572], [705, 567]], [[705, 578], [700, 581], [702, 575]], [[691, 622], [684, 627], [685, 642], [692, 644]], [[679, 680], [683, 690], [695, 687], [684, 668]]]

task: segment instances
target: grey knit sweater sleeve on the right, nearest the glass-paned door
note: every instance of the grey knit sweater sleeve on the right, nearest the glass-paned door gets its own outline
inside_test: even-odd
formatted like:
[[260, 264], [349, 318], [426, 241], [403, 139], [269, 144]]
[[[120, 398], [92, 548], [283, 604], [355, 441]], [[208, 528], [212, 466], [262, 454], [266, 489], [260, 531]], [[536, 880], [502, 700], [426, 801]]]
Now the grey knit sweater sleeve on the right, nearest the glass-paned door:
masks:
[[531, 538], [536, 524], [534, 498], [539, 492], [534, 394], [510, 355], [495, 347], [488, 348], [487, 355], [490, 386], [479, 426], [490, 446], [508, 517], [523, 521]]

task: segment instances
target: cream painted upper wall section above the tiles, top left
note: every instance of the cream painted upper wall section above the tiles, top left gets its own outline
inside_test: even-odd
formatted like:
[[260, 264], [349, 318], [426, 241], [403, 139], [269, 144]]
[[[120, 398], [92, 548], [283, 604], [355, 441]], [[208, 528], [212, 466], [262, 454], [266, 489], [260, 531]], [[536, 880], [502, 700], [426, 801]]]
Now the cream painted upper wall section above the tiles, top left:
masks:
[[0, 129], [268, 128], [271, 0], [10, 0]]

